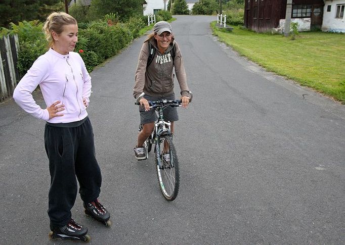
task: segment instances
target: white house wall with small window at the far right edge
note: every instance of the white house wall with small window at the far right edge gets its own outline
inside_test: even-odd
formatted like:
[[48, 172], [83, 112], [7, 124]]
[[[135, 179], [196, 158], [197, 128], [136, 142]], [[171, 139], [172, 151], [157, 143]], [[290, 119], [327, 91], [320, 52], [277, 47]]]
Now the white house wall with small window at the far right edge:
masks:
[[[345, 32], [345, 15], [342, 19], [335, 18], [336, 15], [336, 6], [338, 4], [345, 4], [345, 0], [333, 0], [325, 1], [325, 6], [323, 10], [323, 22], [322, 22], [322, 31], [330, 32]], [[327, 6], [331, 6], [331, 11], [327, 12]]]

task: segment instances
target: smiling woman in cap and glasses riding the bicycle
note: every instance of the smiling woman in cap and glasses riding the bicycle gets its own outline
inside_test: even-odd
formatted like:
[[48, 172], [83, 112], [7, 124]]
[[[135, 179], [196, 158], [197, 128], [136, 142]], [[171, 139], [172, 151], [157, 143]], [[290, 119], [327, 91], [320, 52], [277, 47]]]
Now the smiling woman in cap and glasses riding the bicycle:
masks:
[[[152, 51], [149, 50], [149, 47], [152, 47]], [[150, 52], [153, 55], [152, 62], [148, 61]], [[191, 95], [187, 85], [181, 50], [172, 35], [171, 25], [166, 21], [159, 21], [153, 26], [153, 33], [142, 45], [135, 75], [134, 97], [137, 99], [142, 92], [145, 92], [139, 107], [140, 123], [143, 124], [143, 129], [138, 134], [138, 142], [134, 148], [138, 160], [147, 158], [143, 144], [152, 133], [154, 121], [157, 119], [154, 109], [149, 108], [148, 101], [175, 100], [175, 76], [172, 73], [174, 67], [180, 84], [182, 106], [187, 108]], [[171, 122], [171, 133], [173, 133], [174, 122], [179, 120], [177, 108], [166, 108], [164, 118]]]

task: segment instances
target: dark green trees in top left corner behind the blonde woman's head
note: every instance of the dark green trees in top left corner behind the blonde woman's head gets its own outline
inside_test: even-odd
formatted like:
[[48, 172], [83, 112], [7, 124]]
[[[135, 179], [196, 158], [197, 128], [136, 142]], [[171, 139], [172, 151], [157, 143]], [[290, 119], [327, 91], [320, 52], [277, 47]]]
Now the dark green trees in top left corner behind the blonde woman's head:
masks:
[[0, 26], [8, 27], [11, 22], [40, 20], [45, 21], [54, 11], [64, 11], [61, 0], [2, 0], [0, 3]]

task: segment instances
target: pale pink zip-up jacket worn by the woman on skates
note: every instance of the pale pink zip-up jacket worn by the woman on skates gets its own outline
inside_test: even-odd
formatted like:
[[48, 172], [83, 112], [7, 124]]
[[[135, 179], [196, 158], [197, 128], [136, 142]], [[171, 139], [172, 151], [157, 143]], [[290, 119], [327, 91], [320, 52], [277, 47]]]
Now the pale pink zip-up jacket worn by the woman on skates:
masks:
[[[49, 119], [47, 109], [42, 109], [32, 97], [32, 91], [39, 85], [46, 105], [56, 101], [65, 105], [59, 112], [61, 117]], [[76, 122], [88, 116], [83, 98], [89, 104], [91, 77], [78, 53], [69, 52], [61, 55], [52, 48], [38, 57], [20, 80], [13, 92], [13, 99], [32, 116], [50, 123]]]

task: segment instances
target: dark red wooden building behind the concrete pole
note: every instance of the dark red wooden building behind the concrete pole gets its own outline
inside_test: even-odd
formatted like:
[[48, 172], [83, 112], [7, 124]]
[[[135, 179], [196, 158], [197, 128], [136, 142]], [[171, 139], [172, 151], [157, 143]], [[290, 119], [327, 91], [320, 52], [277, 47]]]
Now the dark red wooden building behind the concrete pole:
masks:
[[[285, 22], [286, 0], [245, 0], [244, 25], [257, 32], [282, 31]], [[291, 22], [300, 30], [320, 29], [323, 0], [292, 0]]]

